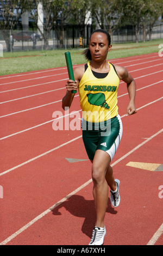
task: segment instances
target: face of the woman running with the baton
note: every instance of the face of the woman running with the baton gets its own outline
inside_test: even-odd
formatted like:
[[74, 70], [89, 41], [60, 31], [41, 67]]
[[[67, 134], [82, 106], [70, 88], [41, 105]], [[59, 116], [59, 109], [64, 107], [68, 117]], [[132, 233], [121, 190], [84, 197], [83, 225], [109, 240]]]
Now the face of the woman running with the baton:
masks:
[[109, 46], [107, 35], [104, 33], [93, 33], [90, 39], [90, 52], [92, 60], [101, 62], [106, 59], [108, 51], [111, 50]]

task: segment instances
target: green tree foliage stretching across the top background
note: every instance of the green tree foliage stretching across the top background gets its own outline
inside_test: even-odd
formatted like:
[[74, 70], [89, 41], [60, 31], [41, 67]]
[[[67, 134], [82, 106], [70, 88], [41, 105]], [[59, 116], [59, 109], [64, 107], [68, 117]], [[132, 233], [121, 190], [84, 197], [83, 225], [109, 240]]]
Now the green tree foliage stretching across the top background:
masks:
[[[5, 32], [13, 29], [20, 20], [24, 11], [28, 10], [30, 16], [37, 26], [37, 6], [42, 3], [46, 22], [42, 24], [43, 31], [40, 30], [45, 40], [45, 48], [48, 48], [48, 36], [54, 26], [60, 26], [57, 32], [60, 45], [63, 42], [64, 25], [84, 25], [86, 15], [92, 17], [93, 23], [99, 27], [115, 31], [122, 25], [135, 27], [136, 41], [141, 27], [149, 27], [148, 33], [152, 33], [155, 21], [162, 14], [163, 0], [7, 0], [1, 1], [2, 8], [0, 15], [0, 29], [3, 31], [4, 39], [10, 50], [10, 35]], [[5, 4], [4, 4], [5, 3]], [[15, 9], [17, 11], [15, 11]]]

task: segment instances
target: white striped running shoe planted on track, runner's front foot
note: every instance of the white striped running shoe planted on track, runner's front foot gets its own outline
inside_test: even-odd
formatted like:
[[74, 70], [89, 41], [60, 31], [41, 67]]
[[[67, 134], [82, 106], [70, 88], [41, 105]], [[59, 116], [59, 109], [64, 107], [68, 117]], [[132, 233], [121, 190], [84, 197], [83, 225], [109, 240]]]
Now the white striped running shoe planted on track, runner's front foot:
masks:
[[106, 229], [95, 227], [93, 228], [92, 238], [89, 245], [103, 245]]

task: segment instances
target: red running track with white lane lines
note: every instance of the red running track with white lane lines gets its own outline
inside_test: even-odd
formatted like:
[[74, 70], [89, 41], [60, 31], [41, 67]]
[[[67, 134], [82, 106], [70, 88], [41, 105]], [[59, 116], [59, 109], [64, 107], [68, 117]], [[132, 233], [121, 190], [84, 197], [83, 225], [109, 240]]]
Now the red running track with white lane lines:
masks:
[[[104, 245], [162, 245], [162, 172], [127, 165], [163, 164], [162, 58], [152, 53], [110, 62], [126, 66], [135, 78], [137, 113], [126, 117], [129, 98], [121, 82], [123, 136], [111, 163], [121, 181], [121, 204], [114, 209], [108, 199]], [[53, 112], [65, 115], [67, 79], [66, 67], [0, 77], [0, 245], [90, 242], [96, 216], [82, 131], [52, 128]], [[82, 116], [78, 93], [72, 111]]]

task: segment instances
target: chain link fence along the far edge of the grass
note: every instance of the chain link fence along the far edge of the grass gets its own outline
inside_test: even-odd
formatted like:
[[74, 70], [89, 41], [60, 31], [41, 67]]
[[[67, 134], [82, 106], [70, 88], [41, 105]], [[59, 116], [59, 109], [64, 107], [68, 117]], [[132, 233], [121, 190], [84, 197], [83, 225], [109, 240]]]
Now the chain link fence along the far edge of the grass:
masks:
[[[95, 26], [56, 26], [50, 32], [40, 33], [36, 28], [0, 31], [0, 45], [3, 51], [55, 50], [57, 48], [85, 48]], [[162, 39], [163, 23], [153, 27], [151, 38], [149, 29], [140, 29], [139, 41]], [[112, 43], [135, 41], [134, 28], [119, 28], [111, 33]]]

